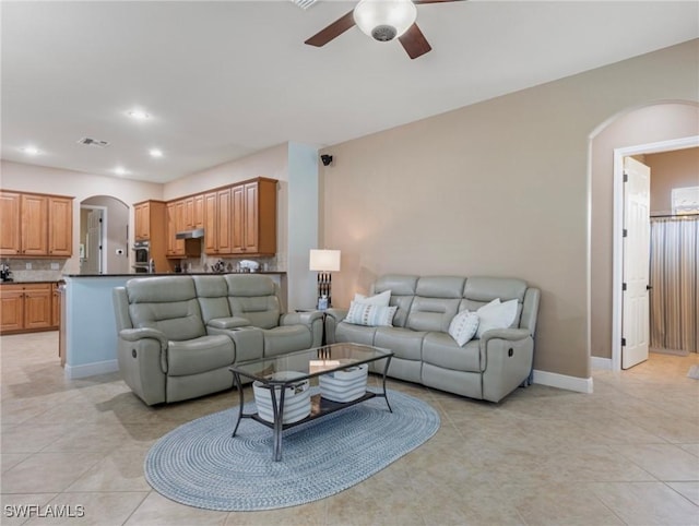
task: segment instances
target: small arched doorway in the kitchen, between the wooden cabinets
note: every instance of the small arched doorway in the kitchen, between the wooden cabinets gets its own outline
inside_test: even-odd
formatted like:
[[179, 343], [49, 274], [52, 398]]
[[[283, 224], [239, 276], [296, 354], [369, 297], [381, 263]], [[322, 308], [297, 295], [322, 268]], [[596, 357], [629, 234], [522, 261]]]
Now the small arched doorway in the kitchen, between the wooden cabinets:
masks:
[[80, 203], [81, 274], [129, 273], [129, 206], [109, 195]]

